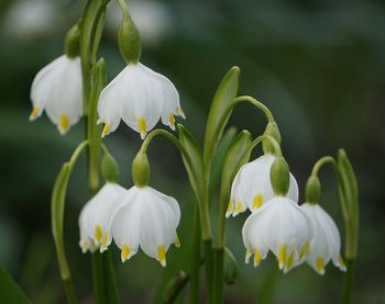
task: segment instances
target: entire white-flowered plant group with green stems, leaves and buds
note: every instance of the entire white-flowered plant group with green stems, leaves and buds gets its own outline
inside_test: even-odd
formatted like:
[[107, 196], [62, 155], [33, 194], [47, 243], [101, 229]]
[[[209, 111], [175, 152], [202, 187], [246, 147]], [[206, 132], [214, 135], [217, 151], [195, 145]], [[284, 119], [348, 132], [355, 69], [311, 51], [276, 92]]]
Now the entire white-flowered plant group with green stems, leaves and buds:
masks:
[[[185, 113], [173, 82], [140, 61], [140, 33], [127, 3], [117, 1], [123, 15], [118, 33], [119, 49], [127, 63], [122, 71], [107, 85], [105, 60], [98, 57], [98, 46], [110, 0], [88, 0], [81, 19], [66, 35], [65, 54], [37, 72], [31, 89], [31, 121], [45, 111], [62, 135], [81, 116], [86, 121], [86, 138], [63, 165], [52, 193], [52, 230], [68, 303], [77, 303], [77, 296], [64, 246], [64, 207], [68, 180], [82, 151], [87, 153], [90, 198], [79, 211], [79, 250], [92, 259], [96, 303], [119, 303], [110, 246], [120, 249], [121, 262], [129, 261], [141, 249], [163, 267], [167, 266], [168, 248], [180, 246], [179, 203], [150, 187], [146, 153], [157, 136], [168, 139], [180, 153], [196, 199], [189, 269], [178, 272], [166, 285], [164, 303], [173, 303], [187, 285], [190, 303], [198, 303], [200, 268], [205, 268], [206, 302], [224, 302], [223, 283], [237, 279], [237, 261], [226, 246], [227, 218], [243, 212], [250, 213], [239, 232], [246, 263], [252, 258], [257, 267], [271, 251], [283, 273], [307, 262], [317, 273], [324, 274], [326, 266], [332, 261], [344, 272], [342, 301], [349, 303], [358, 255], [359, 193], [345, 151], [340, 149], [336, 158], [322, 157], [315, 164], [305, 188], [305, 202], [299, 204], [299, 187], [280, 149], [277, 122], [262, 102], [238, 95], [238, 67], [226, 74], [217, 89], [200, 146], [182, 123], [176, 123], [178, 116], [185, 119]], [[265, 114], [266, 128], [257, 136], [249, 131], [231, 135], [221, 162], [220, 206], [213, 218], [209, 213], [216, 203], [209, 195], [212, 160], [234, 106], [243, 102]], [[121, 121], [143, 140], [132, 161], [130, 189], [119, 184], [118, 165], [101, 140], [116, 132]], [[172, 132], [154, 130], [158, 121]], [[260, 144], [263, 155], [250, 161]], [[344, 246], [334, 221], [320, 205], [318, 173], [324, 165], [331, 165], [337, 176]], [[105, 181], [102, 185], [100, 177]], [[213, 224], [217, 224], [216, 234]]]

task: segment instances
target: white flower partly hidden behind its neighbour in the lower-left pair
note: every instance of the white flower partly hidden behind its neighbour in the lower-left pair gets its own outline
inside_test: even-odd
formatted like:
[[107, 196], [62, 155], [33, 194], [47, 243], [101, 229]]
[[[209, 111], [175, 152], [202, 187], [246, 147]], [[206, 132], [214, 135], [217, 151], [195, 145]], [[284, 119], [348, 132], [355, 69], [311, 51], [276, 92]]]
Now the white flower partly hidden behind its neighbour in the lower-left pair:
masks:
[[82, 207], [79, 216], [80, 248], [82, 252], [100, 247], [100, 252], [111, 244], [111, 219], [121, 206], [120, 195], [128, 190], [117, 183], [106, 183]]

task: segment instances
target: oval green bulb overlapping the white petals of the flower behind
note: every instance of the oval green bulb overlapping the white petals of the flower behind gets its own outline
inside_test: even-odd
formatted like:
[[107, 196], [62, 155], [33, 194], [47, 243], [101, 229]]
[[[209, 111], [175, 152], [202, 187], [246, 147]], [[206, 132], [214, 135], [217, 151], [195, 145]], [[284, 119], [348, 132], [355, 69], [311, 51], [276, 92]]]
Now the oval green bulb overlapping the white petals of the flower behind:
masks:
[[270, 171], [270, 179], [274, 194], [285, 196], [290, 185], [290, 170], [284, 157], [275, 158]]

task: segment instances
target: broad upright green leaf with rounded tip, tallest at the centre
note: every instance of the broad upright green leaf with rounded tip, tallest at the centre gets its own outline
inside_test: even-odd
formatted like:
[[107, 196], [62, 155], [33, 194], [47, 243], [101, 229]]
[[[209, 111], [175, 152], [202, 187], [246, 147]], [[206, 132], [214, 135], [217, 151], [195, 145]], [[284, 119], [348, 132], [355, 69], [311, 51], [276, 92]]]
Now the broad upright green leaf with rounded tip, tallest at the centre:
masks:
[[238, 93], [239, 78], [239, 67], [232, 67], [223, 77], [213, 97], [205, 134], [204, 160], [206, 165], [209, 165], [229, 121], [233, 108], [231, 101]]

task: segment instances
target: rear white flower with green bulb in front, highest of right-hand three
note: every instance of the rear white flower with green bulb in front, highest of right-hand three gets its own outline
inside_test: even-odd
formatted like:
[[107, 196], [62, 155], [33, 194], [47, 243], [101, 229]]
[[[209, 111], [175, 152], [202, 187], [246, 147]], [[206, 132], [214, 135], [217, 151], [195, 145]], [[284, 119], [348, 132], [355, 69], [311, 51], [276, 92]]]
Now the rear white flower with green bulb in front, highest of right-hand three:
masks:
[[[246, 207], [255, 211], [274, 196], [270, 178], [274, 160], [274, 155], [265, 154], [241, 167], [231, 187], [231, 196], [226, 217], [230, 215], [237, 216], [244, 212]], [[287, 196], [292, 201], [298, 202], [298, 184], [292, 173]]]

